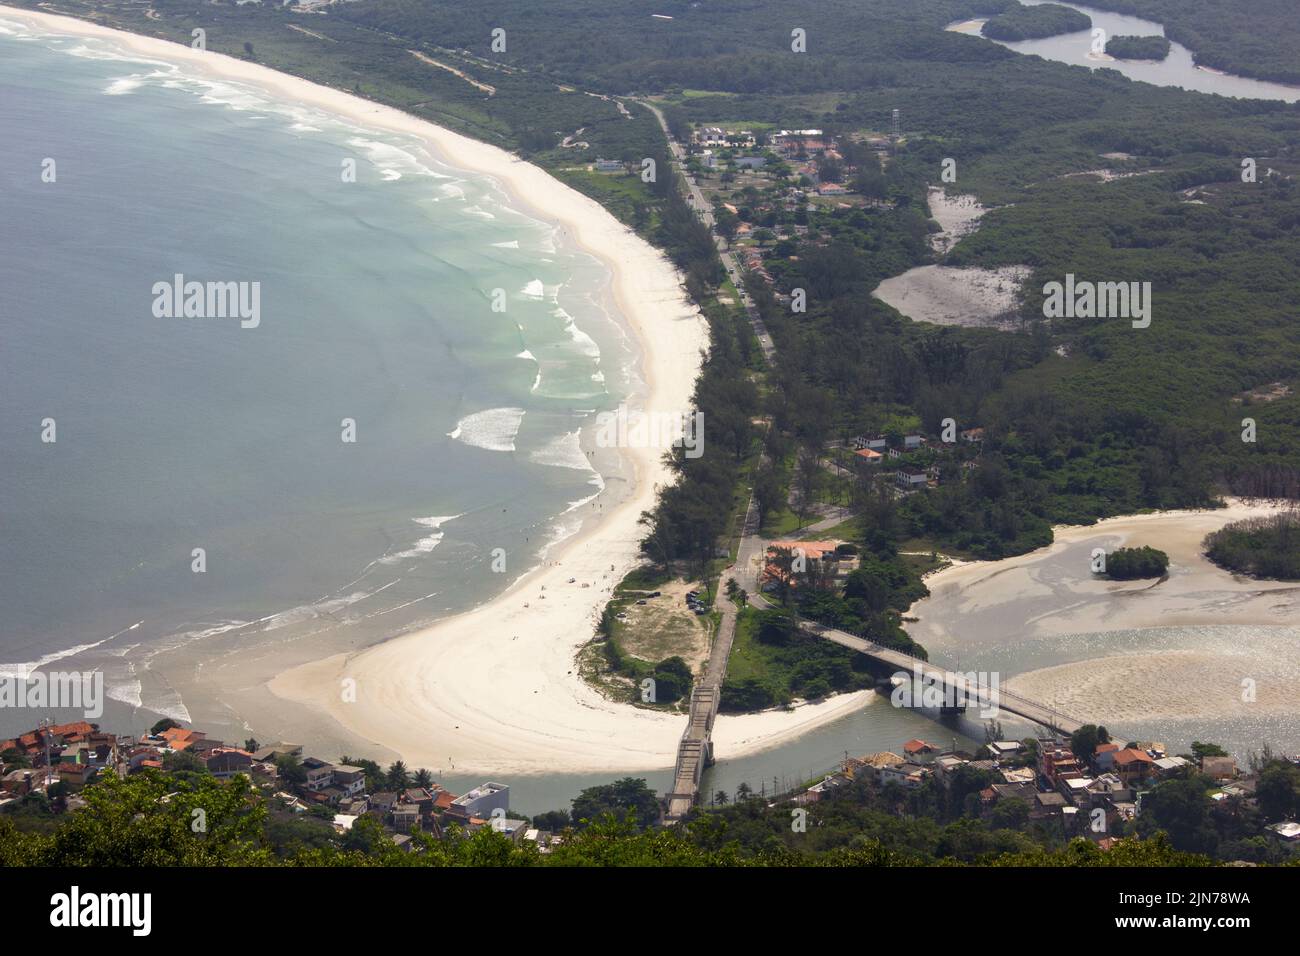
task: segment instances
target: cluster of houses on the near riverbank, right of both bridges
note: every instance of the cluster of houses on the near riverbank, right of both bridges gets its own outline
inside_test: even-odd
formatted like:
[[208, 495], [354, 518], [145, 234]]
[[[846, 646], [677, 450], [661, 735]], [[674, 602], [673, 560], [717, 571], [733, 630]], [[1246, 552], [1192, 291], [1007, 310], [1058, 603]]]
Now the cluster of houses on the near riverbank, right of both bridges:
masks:
[[[1030, 741], [1031, 744], [1035, 741]], [[1157, 783], [1182, 777], [1193, 769], [1216, 780], [1210, 792], [1216, 801], [1251, 801], [1256, 778], [1242, 774], [1232, 757], [1170, 756], [1164, 744], [1098, 744], [1091, 760], [1070, 749], [1069, 739], [1044, 736], [1036, 753], [1019, 740], [997, 740], [985, 747], [987, 757], [975, 758], [956, 749], [945, 750], [914, 739], [902, 753], [881, 752], [849, 757], [837, 773], [796, 795], [806, 805], [832, 799], [854, 780], [876, 786], [888, 783], [904, 788], [935, 780], [950, 786], [959, 767], [989, 771], [994, 782], [980, 791], [982, 809], [988, 813], [1004, 800], [1019, 800], [1028, 806], [1028, 819], [1057, 823], [1067, 835], [1087, 836], [1109, 849], [1127, 823], [1141, 813], [1143, 795]], [[1283, 822], [1268, 827], [1277, 839], [1300, 845], [1300, 823]]]

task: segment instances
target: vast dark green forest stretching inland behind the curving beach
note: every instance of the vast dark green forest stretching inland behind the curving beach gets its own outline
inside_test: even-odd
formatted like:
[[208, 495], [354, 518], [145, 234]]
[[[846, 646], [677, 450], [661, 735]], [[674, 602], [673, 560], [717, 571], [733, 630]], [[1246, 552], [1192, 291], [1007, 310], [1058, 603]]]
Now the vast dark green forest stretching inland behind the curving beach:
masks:
[[[1162, 3], [1131, 0], [1141, 9], [1128, 12], [1153, 16]], [[84, 0], [65, 5], [91, 10]], [[702, 568], [712, 559], [733, 520], [733, 492], [755, 444], [750, 421], [760, 411], [776, 424], [770, 441], [786, 444], [774, 462], [796, 460], [790, 442], [820, 453], [827, 438], [901, 414], [931, 433], [944, 418], [984, 425], [979, 467], [909, 496], [893, 509], [898, 527], [888, 532], [975, 557], [1040, 546], [1053, 523], [1205, 506], [1223, 490], [1300, 496], [1300, 397], [1290, 393], [1252, 410], [1258, 444], [1243, 449], [1235, 440], [1238, 395], [1300, 375], [1300, 341], [1288, 319], [1300, 295], [1295, 107], [1154, 88], [942, 29], [1010, 9], [1004, 0], [753, 0], [744, 17], [710, 4], [681, 5], [671, 27], [647, 23], [633, 0], [598, 10], [578, 0], [556, 0], [545, 10], [525, 0], [490, 0], [472, 10], [441, 0], [369, 0], [313, 17], [312, 30], [325, 40], [290, 30], [303, 18], [278, 8], [194, 0], [153, 7], [160, 20], [125, 3], [94, 10], [114, 25], [182, 42], [203, 26], [211, 48], [234, 55], [251, 42], [260, 62], [517, 150], [670, 251], [714, 332], [696, 402], [706, 412], [708, 447], [725, 454], [680, 460], [681, 480], [647, 516], [646, 553], [662, 570], [671, 562]], [[1227, 14], [1232, 22], [1262, 17], [1277, 26], [1265, 43], [1270, 51], [1284, 46], [1274, 38], [1296, 30], [1280, 22], [1271, 0], [1216, 0], [1213, 8], [1216, 29]], [[790, 55], [789, 38], [772, 26], [801, 17], [836, 23], [814, 38], [815, 56]], [[502, 22], [511, 39], [498, 55], [489, 39]], [[588, 42], [593, 31], [599, 44]], [[1240, 56], [1254, 48], [1235, 29], [1217, 36]], [[410, 49], [490, 82], [495, 95]], [[760, 129], [822, 127], [845, 142], [842, 163], [858, 166], [853, 178], [863, 193], [881, 200], [822, 204], [809, 213], [772, 208], [758, 190], [737, 207], [749, 209], [757, 229], [807, 228], [768, 246], [774, 255], [766, 260], [776, 293], [807, 291], [806, 313], [792, 315], [783, 299], [749, 284], [781, 356], [762, 390], [751, 380], [762, 364], [753, 336], [738, 310], [712, 298], [722, 280], [718, 261], [672, 177], [650, 186], [582, 169], [597, 155], [663, 159], [662, 133], [647, 109], [624, 99], [628, 118], [612, 100], [582, 95], [646, 90], [667, 91], [664, 112], [677, 130], [732, 120]], [[673, 92], [680, 90], [692, 95]], [[885, 129], [894, 108], [906, 142], [880, 165], [855, 137]], [[558, 133], [580, 127], [589, 150], [559, 146]], [[1123, 170], [1144, 174], [1115, 182], [1062, 178], [1095, 169], [1098, 153], [1126, 153], [1132, 159], [1117, 161]], [[1004, 208], [946, 261], [1030, 265], [1020, 332], [936, 330], [871, 297], [880, 280], [935, 260], [926, 185], [949, 156], [958, 159], [962, 193]], [[1243, 156], [1258, 159], [1260, 182], [1242, 182]], [[1277, 174], [1262, 173], [1268, 168]], [[1150, 281], [1152, 328], [1044, 321], [1036, 290], [1067, 272]]]

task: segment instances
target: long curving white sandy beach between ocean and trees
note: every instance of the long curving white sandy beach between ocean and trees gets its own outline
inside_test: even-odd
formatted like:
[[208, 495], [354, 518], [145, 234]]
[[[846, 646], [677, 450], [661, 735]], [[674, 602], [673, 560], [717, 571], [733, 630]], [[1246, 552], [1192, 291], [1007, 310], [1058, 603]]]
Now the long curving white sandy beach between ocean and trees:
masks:
[[[200, 52], [84, 21], [0, 7], [0, 16], [62, 35], [109, 39], [134, 53], [257, 87], [368, 129], [417, 137], [438, 160], [491, 177], [512, 202], [558, 224], [562, 238], [610, 269], [611, 294], [641, 347], [644, 394], [633, 407], [680, 416], [689, 408], [707, 347], [707, 325], [685, 298], [667, 259], [598, 203], [510, 153], [400, 111], [265, 66]], [[707, 423], [705, 427], [707, 436]], [[667, 440], [667, 438], [666, 438]], [[706, 438], [707, 441], [707, 438]], [[554, 774], [671, 766], [682, 717], [615, 704], [577, 675], [576, 650], [590, 640], [615, 584], [638, 563], [642, 511], [668, 479], [662, 446], [624, 449], [636, 479], [618, 501], [546, 555], [546, 564], [468, 613], [350, 654], [296, 666], [261, 683], [276, 695], [254, 708], [242, 695], [250, 730], [303, 727], [321, 741], [373, 744], [411, 766], [442, 773]], [[610, 496], [611, 498], [615, 496]], [[224, 675], [247, 691], [254, 666]], [[268, 697], [263, 693], [261, 697]], [[859, 695], [790, 713], [720, 718], [727, 756], [763, 749], [859, 706]], [[306, 709], [290, 719], [286, 709]], [[313, 730], [311, 734], [317, 734]], [[266, 730], [257, 732], [264, 736]], [[311, 741], [308, 741], [311, 743]]]

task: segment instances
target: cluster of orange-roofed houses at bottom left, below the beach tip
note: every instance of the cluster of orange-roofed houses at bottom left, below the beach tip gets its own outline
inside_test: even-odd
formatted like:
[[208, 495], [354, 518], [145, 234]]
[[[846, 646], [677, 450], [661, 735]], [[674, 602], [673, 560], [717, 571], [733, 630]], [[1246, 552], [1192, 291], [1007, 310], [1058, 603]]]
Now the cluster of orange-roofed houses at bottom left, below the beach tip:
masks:
[[[79, 809], [84, 801], [78, 792], [98, 775], [161, 770], [164, 758], [177, 753], [190, 754], [218, 779], [244, 774], [281, 810], [315, 810], [341, 834], [363, 816], [370, 817], [390, 830], [393, 842], [403, 848], [410, 848], [412, 831], [441, 838], [452, 825], [464, 832], [491, 827], [515, 840], [534, 840], [543, 852], [559, 839], [511, 818], [510, 787], [503, 783], [488, 782], [460, 795], [438, 784], [372, 790], [363, 767], [304, 756], [299, 744], [246, 749], [178, 726], [157, 734], [122, 736], [84, 721], [39, 727], [0, 740], [0, 761], [10, 763], [0, 763], [0, 812], [29, 793], [46, 793], [57, 810]], [[286, 774], [285, 766], [300, 767], [300, 773]], [[287, 779], [290, 775], [292, 779]]]

